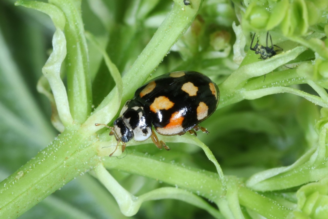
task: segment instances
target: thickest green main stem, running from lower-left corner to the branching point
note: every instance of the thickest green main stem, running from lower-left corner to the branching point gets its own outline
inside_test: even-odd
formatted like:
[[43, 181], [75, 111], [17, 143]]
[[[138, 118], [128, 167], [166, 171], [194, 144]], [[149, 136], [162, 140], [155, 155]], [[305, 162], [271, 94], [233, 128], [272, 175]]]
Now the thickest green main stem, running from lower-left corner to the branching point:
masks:
[[0, 218], [18, 217], [100, 162], [93, 143], [65, 130], [35, 158], [0, 183]]

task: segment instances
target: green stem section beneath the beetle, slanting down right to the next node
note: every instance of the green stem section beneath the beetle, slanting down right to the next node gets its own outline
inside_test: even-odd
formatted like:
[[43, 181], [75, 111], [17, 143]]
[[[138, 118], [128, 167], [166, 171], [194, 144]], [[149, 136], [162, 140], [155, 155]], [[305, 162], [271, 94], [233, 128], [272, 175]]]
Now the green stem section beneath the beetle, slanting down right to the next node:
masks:
[[106, 168], [120, 169], [125, 172], [157, 179], [188, 189], [211, 200], [218, 199], [222, 195], [221, 180], [218, 175], [213, 176], [214, 173], [205, 173], [198, 169], [189, 170], [182, 166], [134, 154], [128, 154], [124, 159], [104, 158], [103, 163]]

